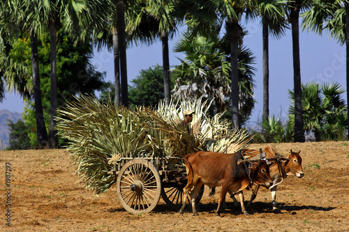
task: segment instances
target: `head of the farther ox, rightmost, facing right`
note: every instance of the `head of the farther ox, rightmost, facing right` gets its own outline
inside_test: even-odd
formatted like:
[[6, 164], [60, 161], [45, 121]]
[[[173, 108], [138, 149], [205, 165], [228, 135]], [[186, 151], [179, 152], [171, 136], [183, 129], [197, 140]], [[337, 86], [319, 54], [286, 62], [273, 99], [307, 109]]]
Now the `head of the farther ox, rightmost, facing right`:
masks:
[[287, 175], [296, 175], [298, 178], [304, 177], [302, 157], [299, 156], [300, 152], [293, 152], [291, 149], [287, 159], [279, 159], [279, 161], [285, 163], [285, 173]]

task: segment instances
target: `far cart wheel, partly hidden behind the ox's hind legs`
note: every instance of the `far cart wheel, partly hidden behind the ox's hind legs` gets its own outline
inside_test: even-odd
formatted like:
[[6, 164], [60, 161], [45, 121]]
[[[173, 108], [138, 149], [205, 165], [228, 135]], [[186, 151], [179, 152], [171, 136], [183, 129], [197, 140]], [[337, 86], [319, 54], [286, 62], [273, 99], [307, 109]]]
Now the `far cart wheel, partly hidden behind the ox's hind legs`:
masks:
[[[173, 210], [179, 210], [181, 205], [183, 205], [183, 189], [186, 187], [186, 183], [184, 184], [176, 184], [171, 187], [163, 187], [161, 191], [161, 196], [163, 197], [163, 201], [170, 206]], [[196, 196], [195, 203], [198, 204], [202, 198], [202, 194], [204, 193], [205, 184], [202, 184], [202, 187]], [[191, 205], [190, 198], [186, 198], [186, 202], [188, 205]]]

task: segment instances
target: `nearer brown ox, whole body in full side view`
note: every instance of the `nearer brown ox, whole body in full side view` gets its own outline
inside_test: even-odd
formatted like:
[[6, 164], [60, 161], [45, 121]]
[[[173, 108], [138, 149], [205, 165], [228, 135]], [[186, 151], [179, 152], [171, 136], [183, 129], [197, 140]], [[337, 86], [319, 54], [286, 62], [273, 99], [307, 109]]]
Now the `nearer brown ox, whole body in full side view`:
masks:
[[[195, 152], [184, 156], [186, 173], [188, 176], [188, 184], [184, 187], [184, 198], [188, 196], [188, 192], [194, 187], [193, 191], [191, 191], [191, 203], [193, 205], [194, 216], [198, 215], [195, 208], [195, 198], [202, 184], [206, 184], [209, 187], [221, 186], [221, 195], [216, 210], [216, 216], [219, 216], [221, 204], [225, 201], [225, 195], [228, 190], [239, 194], [242, 212], [248, 215], [244, 206], [244, 195], [242, 194], [242, 190], [246, 189], [246, 187], [251, 184], [251, 181], [265, 187], [269, 187], [272, 184], [269, 175], [269, 166], [264, 160], [251, 162], [252, 165], [248, 168], [251, 172], [248, 175], [248, 171], [244, 168], [244, 164], [237, 164], [238, 156], [240, 158], [242, 154]], [[184, 201], [179, 211], [181, 214], [183, 214], [185, 207], [186, 201]]]

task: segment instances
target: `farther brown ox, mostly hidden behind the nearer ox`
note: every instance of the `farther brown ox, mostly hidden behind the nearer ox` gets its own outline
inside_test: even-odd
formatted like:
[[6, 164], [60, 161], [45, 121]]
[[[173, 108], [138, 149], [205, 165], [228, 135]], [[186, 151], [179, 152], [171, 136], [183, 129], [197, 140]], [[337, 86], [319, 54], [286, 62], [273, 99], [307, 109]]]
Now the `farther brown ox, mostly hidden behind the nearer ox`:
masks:
[[[274, 150], [273, 147], [265, 147], [263, 150], [267, 154], [267, 157], [274, 157], [275, 155], [278, 155], [277, 152]], [[278, 161], [274, 161], [273, 164], [269, 166], [270, 170], [270, 177], [272, 177], [273, 184], [271, 187], [269, 187], [270, 191], [272, 192], [272, 202], [273, 202], [273, 210], [279, 210], [279, 208], [276, 205], [276, 188], [278, 184], [281, 184], [283, 180], [285, 180], [285, 177], [288, 175], [296, 175], [299, 178], [302, 178], [304, 176], [303, 169], [302, 169], [302, 157], [299, 156], [299, 152], [293, 152], [292, 149], [290, 151], [290, 154], [288, 154], [287, 157], [279, 159], [279, 165]], [[254, 152], [255, 154], [258, 154], [258, 151]], [[252, 187], [252, 194], [251, 199], [248, 201], [247, 207], [248, 208], [252, 201], [257, 196], [257, 192], [259, 189], [259, 184], [253, 184]], [[235, 200], [235, 198], [233, 198]], [[235, 200], [235, 203], [237, 201]]]

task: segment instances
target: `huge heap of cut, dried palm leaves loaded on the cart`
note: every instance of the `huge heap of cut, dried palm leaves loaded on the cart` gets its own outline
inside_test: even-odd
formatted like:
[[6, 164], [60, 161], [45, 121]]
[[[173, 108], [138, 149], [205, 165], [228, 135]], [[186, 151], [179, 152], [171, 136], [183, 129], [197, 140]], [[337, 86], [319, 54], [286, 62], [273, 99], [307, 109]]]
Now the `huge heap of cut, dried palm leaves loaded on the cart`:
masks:
[[[91, 96], [80, 96], [58, 110], [57, 130], [68, 140], [68, 152], [77, 166], [80, 182], [94, 194], [110, 189], [116, 181], [107, 172], [110, 158], [121, 161], [125, 154], [169, 157], [167, 168], [183, 168], [180, 159], [197, 151], [236, 152], [251, 137], [246, 131], [231, 129], [223, 114], [207, 116], [210, 103], [201, 99], [160, 102], [157, 108], [123, 108], [111, 101], [100, 103]], [[182, 112], [193, 115], [193, 134], [182, 126]], [[185, 170], [185, 168], [184, 168]]]

